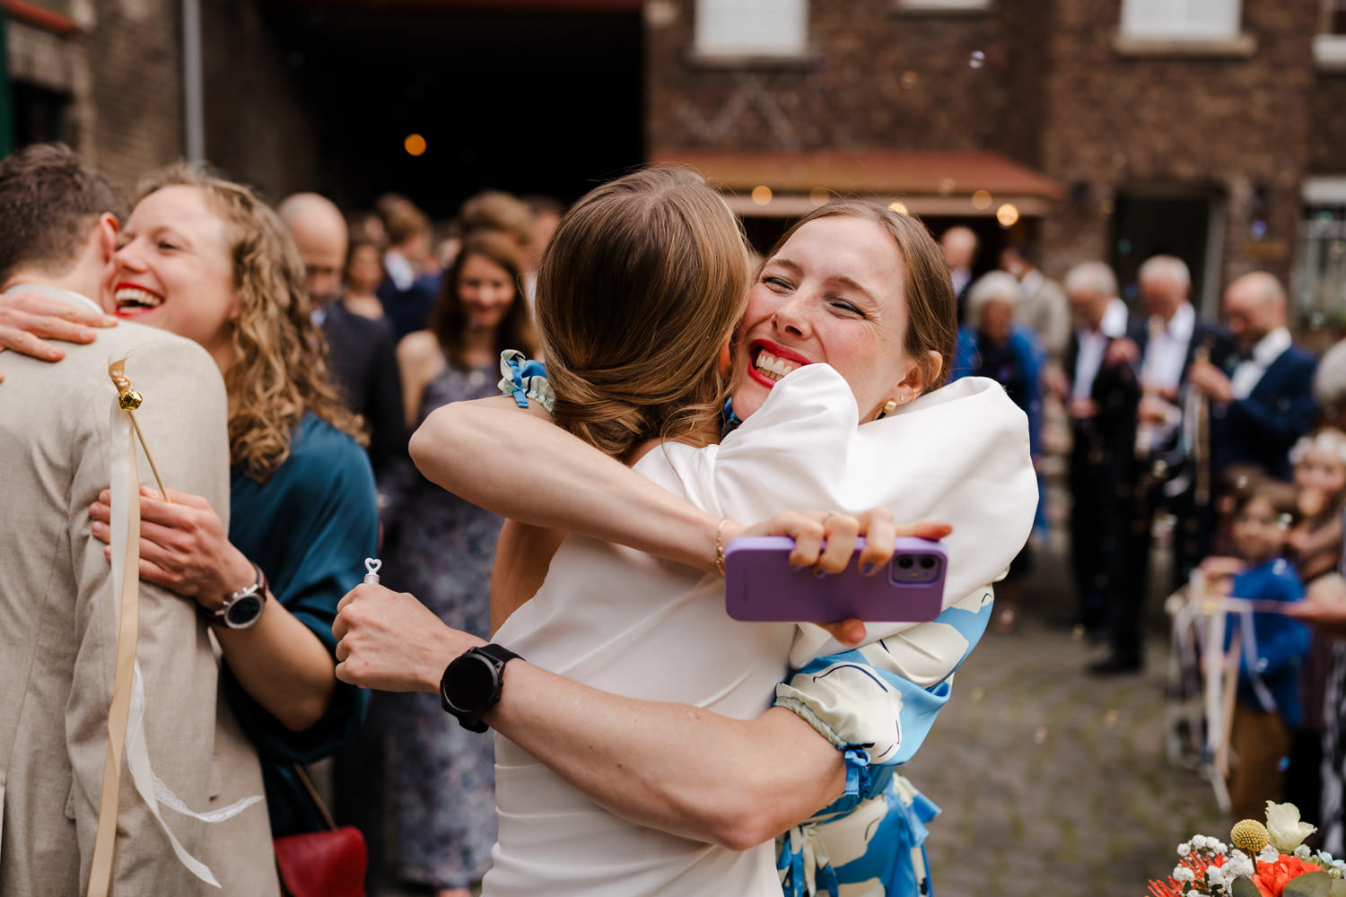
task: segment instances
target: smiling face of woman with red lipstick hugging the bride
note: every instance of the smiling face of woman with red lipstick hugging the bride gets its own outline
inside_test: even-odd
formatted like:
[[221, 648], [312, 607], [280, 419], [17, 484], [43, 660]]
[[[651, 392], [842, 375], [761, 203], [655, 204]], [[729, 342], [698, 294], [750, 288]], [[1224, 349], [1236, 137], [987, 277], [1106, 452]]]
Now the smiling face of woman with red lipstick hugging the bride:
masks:
[[902, 254], [880, 225], [835, 215], [801, 226], [748, 292], [735, 413], [752, 414], [778, 379], [817, 362], [851, 385], [861, 422], [903, 390], [919, 393], [919, 368], [903, 348], [903, 284]]

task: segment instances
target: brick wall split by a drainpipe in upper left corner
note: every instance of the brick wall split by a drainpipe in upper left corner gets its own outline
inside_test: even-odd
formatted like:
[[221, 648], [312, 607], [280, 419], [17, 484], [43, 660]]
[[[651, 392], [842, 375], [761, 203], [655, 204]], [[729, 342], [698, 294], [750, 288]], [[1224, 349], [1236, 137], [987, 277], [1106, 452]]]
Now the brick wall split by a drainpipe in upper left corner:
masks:
[[[318, 141], [254, 0], [201, 0], [206, 157], [276, 196]], [[17, 143], [61, 140], [125, 191], [187, 155], [180, 0], [0, 4]]]

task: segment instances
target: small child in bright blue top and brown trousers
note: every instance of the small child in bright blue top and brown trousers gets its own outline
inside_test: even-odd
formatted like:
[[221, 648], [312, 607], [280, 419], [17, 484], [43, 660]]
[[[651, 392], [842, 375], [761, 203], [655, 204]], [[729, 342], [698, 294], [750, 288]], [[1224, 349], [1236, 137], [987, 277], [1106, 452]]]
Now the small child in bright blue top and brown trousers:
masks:
[[[1263, 480], [1240, 496], [1232, 537], [1241, 569], [1229, 593], [1248, 601], [1295, 602], [1304, 585], [1284, 557], [1295, 507], [1287, 483]], [[1202, 565], [1218, 570], [1221, 558]], [[1228, 568], [1225, 568], [1228, 570]], [[1225, 648], [1240, 639], [1238, 699], [1230, 732], [1229, 799], [1234, 819], [1257, 819], [1268, 800], [1280, 802], [1291, 729], [1300, 724], [1299, 668], [1308, 654], [1308, 628], [1276, 611], [1238, 609], [1225, 621]]]

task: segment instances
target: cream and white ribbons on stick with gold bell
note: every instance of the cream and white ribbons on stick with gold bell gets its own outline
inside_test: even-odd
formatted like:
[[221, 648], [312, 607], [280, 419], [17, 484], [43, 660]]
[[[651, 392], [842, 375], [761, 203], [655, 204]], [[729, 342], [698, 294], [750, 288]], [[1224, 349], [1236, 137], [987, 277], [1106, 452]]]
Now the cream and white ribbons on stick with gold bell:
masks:
[[[118, 391], [125, 385], [121, 366], [125, 359], [108, 368]], [[120, 378], [120, 382], [118, 382]], [[192, 819], [206, 823], [219, 823], [233, 819], [248, 807], [260, 803], [261, 795], [244, 797], [227, 807], [209, 812], [195, 812], [172, 789], [159, 779], [149, 764], [149, 750], [144, 740], [145, 689], [136, 660], [136, 633], [139, 625], [140, 597], [140, 472], [136, 463], [136, 440], [139, 428], [131, 414], [122, 409], [121, 397], [112, 403], [109, 428], [109, 460], [112, 491], [112, 581], [120, 584], [120, 602], [114, 604], [118, 617], [117, 668], [113, 679], [112, 709], [108, 717], [108, 758], [104, 765], [102, 802], [98, 808], [98, 831], [94, 836], [93, 865], [89, 878], [89, 897], [106, 897], [112, 882], [113, 846], [117, 832], [117, 804], [121, 784], [121, 757], [125, 753], [132, 783], [149, 814], [163, 828], [174, 854], [197, 878], [219, 888], [219, 881], [206, 863], [201, 862], [178, 841], [178, 836], [164, 822], [160, 804]], [[141, 438], [143, 434], [141, 434]], [[147, 457], [149, 457], [147, 452]], [[151, 460], [151, 465], [153, 461]], [[157, 479], [157, 471], [155, 476]], [[163, 483], [160, 480], [160, 491]], [[167, 492], [163, 491], [167, 496]]]

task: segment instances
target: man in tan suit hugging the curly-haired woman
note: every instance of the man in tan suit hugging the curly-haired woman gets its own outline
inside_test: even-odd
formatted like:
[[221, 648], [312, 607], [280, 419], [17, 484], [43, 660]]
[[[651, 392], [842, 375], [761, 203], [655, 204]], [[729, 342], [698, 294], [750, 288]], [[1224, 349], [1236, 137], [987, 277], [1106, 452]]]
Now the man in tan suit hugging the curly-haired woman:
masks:
[[[0, 163], [0, 290], [93, 305], [116, 249], [120, 200], [63, 147]], [[229, 512], [225, 389], [190, 340], [122, 323], [69, 346], [61, 364], [8, 355], [0, 385], [0, 893], [83, 894], [98, 824], [117, 650], [118, 590], [90, 534], [108, 488], [117, 391], [112, 360], [144, 395], [137, 421], [171, 488]], [[140, 476], [153, 483], [143, 453]], [[137, 662], [153, 776], [190, 814], [163, 823], [222, 885], [199, 881], [122, 763], [113, 894], [276, 894], [256, 752], [218, 695], [218, 664], [195, 602], [140, 586]], [[128, 750], [129, 756], [129, 750]], [[241, 803], [240, 803], [241, 802]], [[237, 811], [223, 822], [203, 816]], [[217, 815], [227, 815], [217, 814]]]

